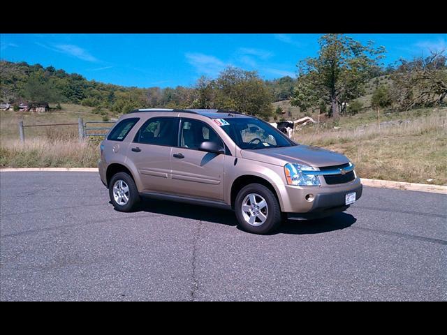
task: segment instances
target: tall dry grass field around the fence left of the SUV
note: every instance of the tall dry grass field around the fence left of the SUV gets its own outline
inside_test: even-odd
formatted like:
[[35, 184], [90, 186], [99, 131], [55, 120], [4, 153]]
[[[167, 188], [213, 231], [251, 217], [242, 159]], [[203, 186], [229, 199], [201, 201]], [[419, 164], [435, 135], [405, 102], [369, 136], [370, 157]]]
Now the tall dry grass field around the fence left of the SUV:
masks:
[[[96, 167], [98, 140], [79, 141], [78, 118], [102, 121], [91, 107], [64, 105], [51, 112], [0, 112], [0, 167], [83, 168]], [[73, 126], [24, 128], [25, 142], [19, 140], [18, 122], [24, 125], [66, 124]]]

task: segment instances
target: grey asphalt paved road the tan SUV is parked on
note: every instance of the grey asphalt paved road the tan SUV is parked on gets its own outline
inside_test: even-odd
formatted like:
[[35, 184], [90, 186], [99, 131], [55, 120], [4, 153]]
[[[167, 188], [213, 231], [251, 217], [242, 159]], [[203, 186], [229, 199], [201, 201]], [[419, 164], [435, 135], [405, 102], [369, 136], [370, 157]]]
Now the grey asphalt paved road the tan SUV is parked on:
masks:
[[365, 188], [345, 214], [236, 228], [233, 212], [147, 201], [96, 173], [0, 174], [3, 300], [447, 300], [447, 196]]

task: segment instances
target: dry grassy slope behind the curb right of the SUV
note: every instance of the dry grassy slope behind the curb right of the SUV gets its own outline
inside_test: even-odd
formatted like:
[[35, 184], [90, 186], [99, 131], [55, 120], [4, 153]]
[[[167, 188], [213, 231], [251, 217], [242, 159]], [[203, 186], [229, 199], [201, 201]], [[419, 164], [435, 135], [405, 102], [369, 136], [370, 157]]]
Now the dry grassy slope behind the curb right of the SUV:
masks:
[[296, 135], [302, 144], [345, 154], [360, 177], [447, 184], [447, 111], [434, 112], [409, 123], [325, 130]]

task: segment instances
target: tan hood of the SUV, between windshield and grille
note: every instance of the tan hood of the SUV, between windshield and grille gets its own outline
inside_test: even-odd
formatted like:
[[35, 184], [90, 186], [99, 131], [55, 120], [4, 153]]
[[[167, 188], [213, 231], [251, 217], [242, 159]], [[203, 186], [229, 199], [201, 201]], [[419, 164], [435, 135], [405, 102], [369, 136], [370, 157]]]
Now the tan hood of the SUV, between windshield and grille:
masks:
[[318, 168], [349, 163], [349, 159], [342, 154], [301, 144], [293, 147], [242, 150], [241, 156], [252, 161], [260, 161], [274, 165], [300, 163]]

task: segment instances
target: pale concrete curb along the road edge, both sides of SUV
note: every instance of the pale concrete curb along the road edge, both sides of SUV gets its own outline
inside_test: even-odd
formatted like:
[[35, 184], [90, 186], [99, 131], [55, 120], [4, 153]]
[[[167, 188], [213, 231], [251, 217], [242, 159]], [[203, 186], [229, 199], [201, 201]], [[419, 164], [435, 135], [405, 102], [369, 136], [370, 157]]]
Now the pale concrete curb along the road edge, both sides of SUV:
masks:
[[[0, 172], [98, 172], [98, 168], [5, 168], [0, 169]], [[447, 186], [444, 185], [429, 185], [429, 184], [417, 184], [417, 183], [405, 183], [402, 181], [390, 181], [379, 179], [367, 179], [361, 178], [363, 186], [380, 187], [380, 188], [394, 188], [404, 191], [418, 191], [429, 193], [441, 193], [447, 195]]]

